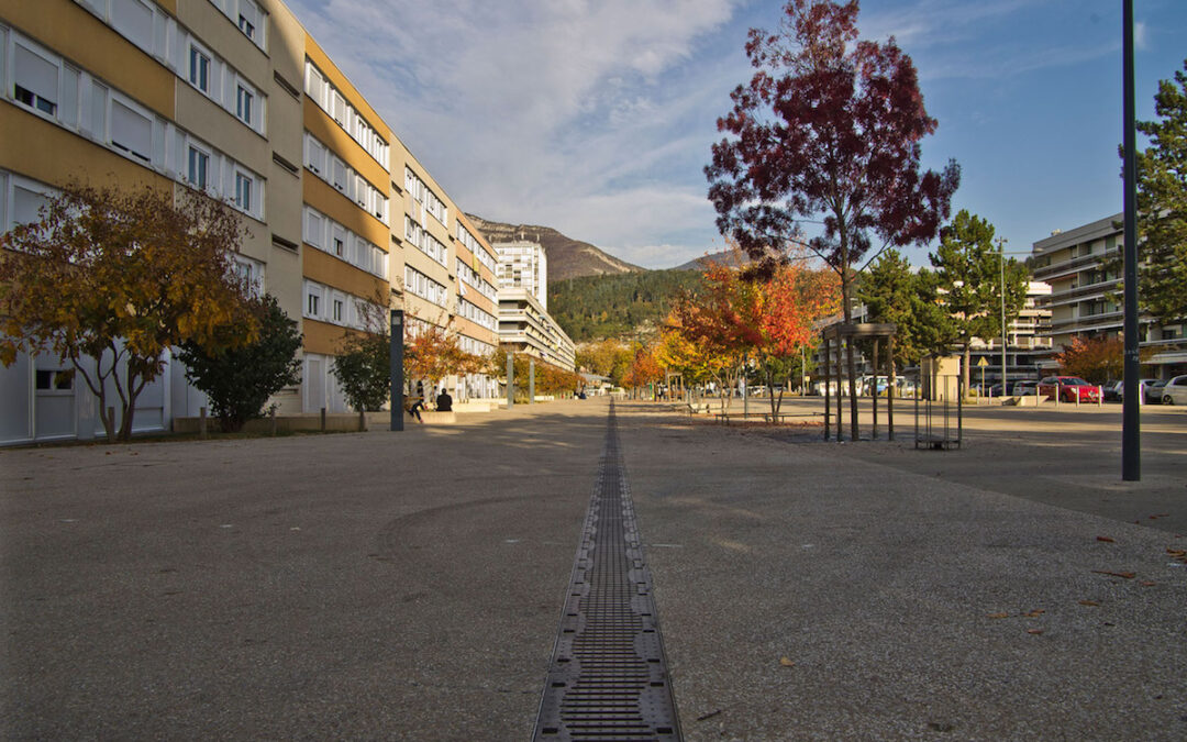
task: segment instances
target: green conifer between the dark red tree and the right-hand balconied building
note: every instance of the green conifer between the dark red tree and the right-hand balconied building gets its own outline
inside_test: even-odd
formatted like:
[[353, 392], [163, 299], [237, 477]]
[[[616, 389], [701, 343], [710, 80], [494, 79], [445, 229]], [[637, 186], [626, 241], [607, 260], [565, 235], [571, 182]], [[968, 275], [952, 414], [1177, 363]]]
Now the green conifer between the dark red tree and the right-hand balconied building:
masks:
[[[1003, 278], [998, 261], [1005, 256], [994, 249], [994, 226], [961, 209], [941, 232], [940, 246], [931, 260], [944, 291], [956, 341], [964, 349], [960, 374], [967, 389], [972, 338], [988, 340], [1002, 331]], [[1007, 260], [1004, 269], [1005, 322], [1009, 323], [1026, 302], [1028, 274], [1014, 259]]]

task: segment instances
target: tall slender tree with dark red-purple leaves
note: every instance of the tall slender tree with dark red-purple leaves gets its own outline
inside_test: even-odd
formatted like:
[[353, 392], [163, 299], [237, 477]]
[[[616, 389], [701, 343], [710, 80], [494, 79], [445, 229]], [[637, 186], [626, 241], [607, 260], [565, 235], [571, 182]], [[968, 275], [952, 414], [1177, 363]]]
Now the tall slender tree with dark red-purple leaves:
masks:
[[[823, 221], [808, 247], [840, 279], [852, 322], [853, 280], [877, 252], [931, 241], [950, 213], [960, 170], [921, 172], [920, 140], [935, 131], [915, 66], [894, 38], [857, 40], [857, 0], [791, 0], [779, 32], [750, 30], [757, 70], [731, 94], [717, 128], [732, 139], [705, 167], [717, 227], [769, 273], [801, 240], [796, 218]], [[775, 256], [770, 255], [775, 248]], [[857, 439], [856, 368], [846, 357]]]

